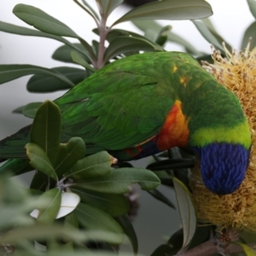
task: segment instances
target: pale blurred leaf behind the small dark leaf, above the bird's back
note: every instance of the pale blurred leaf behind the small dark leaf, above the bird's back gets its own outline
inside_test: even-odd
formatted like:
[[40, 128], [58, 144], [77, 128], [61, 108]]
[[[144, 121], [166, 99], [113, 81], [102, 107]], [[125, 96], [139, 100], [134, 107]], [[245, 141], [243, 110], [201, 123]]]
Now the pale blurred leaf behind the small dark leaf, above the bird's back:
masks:
[[[153, 29], [155, 32], [160, 32], [162, 29], [162, 26], [160, 26], [160, 24], [157, 23], [155, 20], [133, 20], [132, 23], [143, 32], [145, 32], [148, 28]], [[187, 40], [185, 40], [184, 38], [181, 38], [179, 35], [177, 35], [172, 31], [167, 32], [167, 39], [170, 42], [180, 44], [189, 53], [193, 53], [193, 54], [199, 53], [199, 51], [195, 49], [195, 47], [192, 44], [190, 44]]]

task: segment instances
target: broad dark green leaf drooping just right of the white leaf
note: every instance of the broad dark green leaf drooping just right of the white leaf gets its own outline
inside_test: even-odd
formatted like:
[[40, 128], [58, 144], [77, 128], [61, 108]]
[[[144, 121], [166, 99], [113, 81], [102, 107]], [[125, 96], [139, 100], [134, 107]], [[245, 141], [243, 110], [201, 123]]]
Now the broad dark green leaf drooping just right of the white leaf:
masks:
[[86, 230], [113, 232], [119, 234], [119, 240], [116, 243], [121, 243], [124, 240], [122, 228], [107, 213], [84, 203], [80, 203], [75, 212], [77, 213], [79, 224]]

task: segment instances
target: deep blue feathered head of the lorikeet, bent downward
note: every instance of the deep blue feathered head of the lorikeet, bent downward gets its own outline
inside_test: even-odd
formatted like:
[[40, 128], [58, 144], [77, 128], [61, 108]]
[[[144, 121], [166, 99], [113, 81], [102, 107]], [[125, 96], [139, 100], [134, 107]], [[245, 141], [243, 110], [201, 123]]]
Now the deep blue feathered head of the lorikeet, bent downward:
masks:
[[250, 150], [240, 144], [211, 143], [195, 148], [201, 160], [201, 177], [207, 189], [227, 195], [238, 189], [245, 177]]

